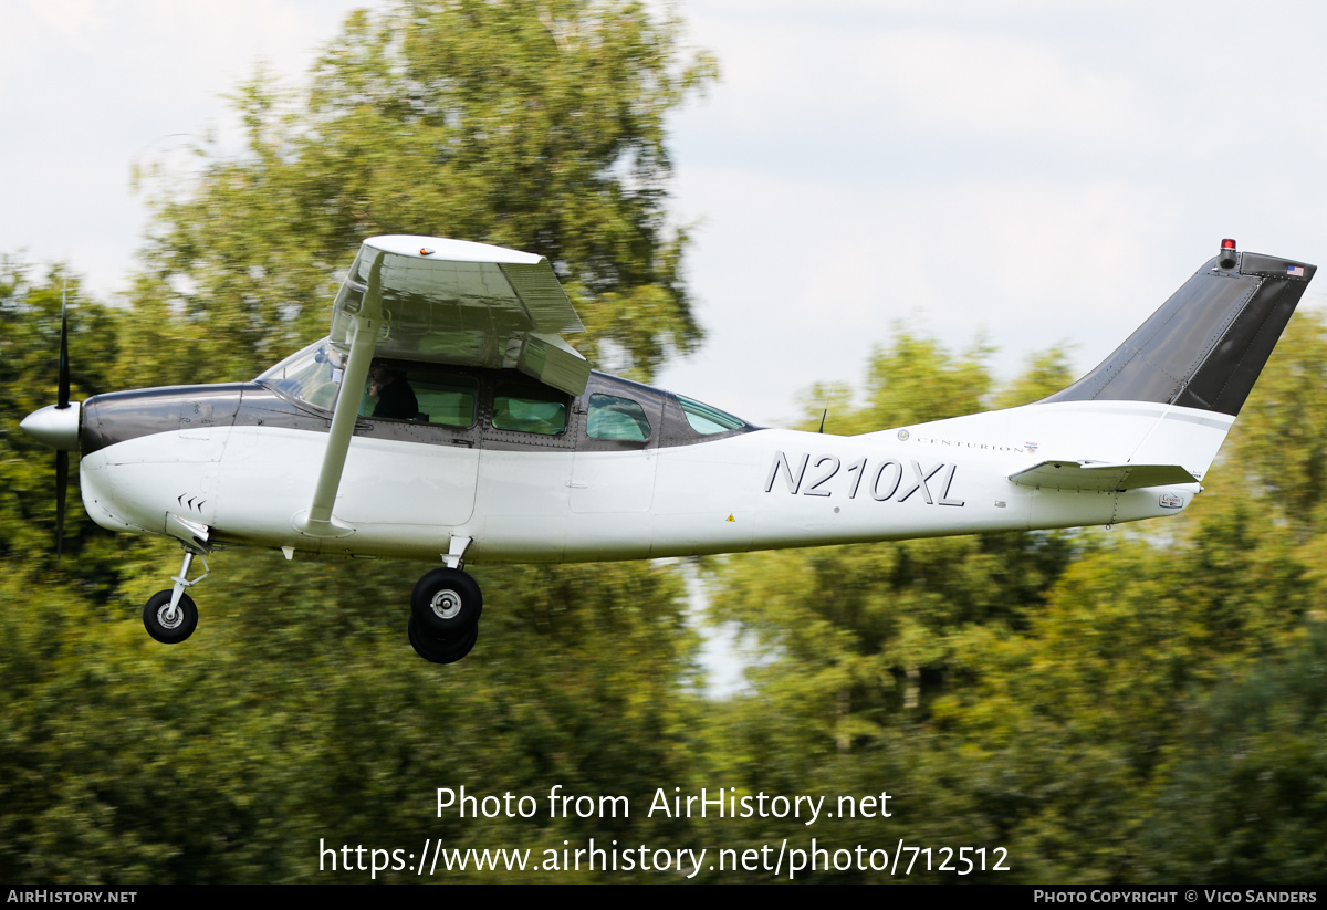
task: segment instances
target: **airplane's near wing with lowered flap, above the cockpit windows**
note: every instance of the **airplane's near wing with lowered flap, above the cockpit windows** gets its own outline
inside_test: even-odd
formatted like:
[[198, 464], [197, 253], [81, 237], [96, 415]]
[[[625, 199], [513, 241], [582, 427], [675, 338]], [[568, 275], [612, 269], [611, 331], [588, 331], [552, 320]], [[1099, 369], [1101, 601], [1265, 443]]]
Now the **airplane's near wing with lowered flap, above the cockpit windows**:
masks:
[[374, 269], [377, 357], [515, 367], [568, 394], [585, 391], [589, 363], [561, 338], [585, 326], [543, 256], [442, 237], [369, 237], [332, 308], [332, 344], [342, 350]]

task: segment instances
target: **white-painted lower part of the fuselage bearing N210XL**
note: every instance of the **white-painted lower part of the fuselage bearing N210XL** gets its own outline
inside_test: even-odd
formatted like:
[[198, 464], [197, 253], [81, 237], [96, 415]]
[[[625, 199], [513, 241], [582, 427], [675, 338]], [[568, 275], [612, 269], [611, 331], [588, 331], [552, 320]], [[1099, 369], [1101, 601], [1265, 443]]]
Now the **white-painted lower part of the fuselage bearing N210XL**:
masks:
[[218, 543], [435, 561], [588, 561], [981, 531], [1113, 524], [1182, 511], [1197, 484], [1034, 488], [1047, 459], [1181, 464], [1201, 479], [1233, 418], [1140, 402], [1030, 405], [860, 436], [760, 430], [638, 451], [510, 451], [356, 436], [337, 537], [300, 531], [324, 432], [218, 426], [155, 432], [81, 462], [89, 515]]

